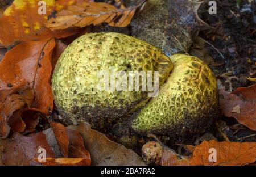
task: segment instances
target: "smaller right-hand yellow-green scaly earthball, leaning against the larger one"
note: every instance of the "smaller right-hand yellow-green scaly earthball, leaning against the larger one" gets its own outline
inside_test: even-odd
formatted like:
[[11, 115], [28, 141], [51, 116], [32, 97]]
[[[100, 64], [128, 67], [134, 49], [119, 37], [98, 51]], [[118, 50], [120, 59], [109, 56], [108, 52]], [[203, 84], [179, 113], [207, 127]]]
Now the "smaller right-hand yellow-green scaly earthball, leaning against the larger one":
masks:
[[211, 70], [199, 58], [171, 56], [174, 70], [135, 117], [132, 127], [140, 133], [172, 136], [204, 132], [218, 116], [218, 88]]

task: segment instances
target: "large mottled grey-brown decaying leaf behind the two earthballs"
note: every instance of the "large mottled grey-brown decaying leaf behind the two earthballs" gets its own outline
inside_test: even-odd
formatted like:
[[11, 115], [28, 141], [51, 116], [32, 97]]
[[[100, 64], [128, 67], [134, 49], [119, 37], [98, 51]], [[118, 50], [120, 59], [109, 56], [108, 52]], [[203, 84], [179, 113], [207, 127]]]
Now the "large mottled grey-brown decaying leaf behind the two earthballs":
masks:
[[[188, 53], [200, 26], [208, 26], [197, 15], [202, 2], [150, 0], [132, 22], [132, 36], [159, 47], [170, 56]], [[208, 26], [209, 27], [209, 26]]]

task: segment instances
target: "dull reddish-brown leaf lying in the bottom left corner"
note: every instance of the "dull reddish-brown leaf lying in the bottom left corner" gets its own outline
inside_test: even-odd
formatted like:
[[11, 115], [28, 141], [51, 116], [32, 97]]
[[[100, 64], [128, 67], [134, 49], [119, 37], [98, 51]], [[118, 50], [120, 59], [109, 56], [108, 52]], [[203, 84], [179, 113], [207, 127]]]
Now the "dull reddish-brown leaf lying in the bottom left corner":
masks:
[[40, 148], [46, 150], [47, 158], [55, 157], [42, 132], [30, 134], [30, 136], [14, 133], [9, 143], [5, 144], [1, 151], [2, 162], [4, 165], [32, 165], [33, 159], [37, 159], [40, 155], [40, 151], [38, 151]]

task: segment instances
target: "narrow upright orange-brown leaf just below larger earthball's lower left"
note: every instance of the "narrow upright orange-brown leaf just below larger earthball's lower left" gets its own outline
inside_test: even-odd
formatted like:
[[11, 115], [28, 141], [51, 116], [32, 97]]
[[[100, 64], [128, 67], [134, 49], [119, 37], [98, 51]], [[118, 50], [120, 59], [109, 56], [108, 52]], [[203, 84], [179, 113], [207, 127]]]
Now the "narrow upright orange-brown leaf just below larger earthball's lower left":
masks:
[[57, 140], [57, 144], [59, 145], [60, 153], [63, 155], [63, 157], [68, 157], [69, 141], [66, 128], [64, 125], [55, 122], [51, 123], [51, 127]]

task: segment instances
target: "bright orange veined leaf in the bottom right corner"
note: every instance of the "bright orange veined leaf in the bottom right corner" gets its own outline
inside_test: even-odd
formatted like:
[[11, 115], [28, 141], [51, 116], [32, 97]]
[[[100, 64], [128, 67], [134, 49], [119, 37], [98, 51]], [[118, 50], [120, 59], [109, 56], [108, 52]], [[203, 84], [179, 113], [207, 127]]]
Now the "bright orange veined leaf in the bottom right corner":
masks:
[[[209, 162], [209, 149], [216, 149], [216, 162]], [[203, 141], [193, 151], [191, 165], [247, 165], [256, 160], [256, 142]]]

